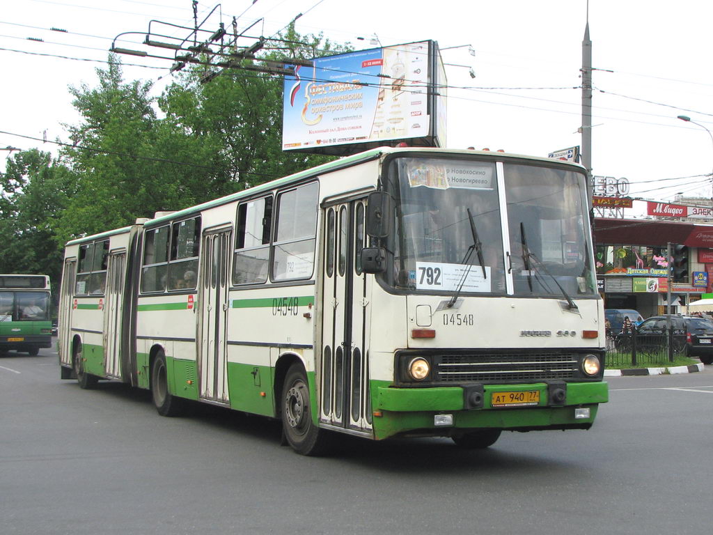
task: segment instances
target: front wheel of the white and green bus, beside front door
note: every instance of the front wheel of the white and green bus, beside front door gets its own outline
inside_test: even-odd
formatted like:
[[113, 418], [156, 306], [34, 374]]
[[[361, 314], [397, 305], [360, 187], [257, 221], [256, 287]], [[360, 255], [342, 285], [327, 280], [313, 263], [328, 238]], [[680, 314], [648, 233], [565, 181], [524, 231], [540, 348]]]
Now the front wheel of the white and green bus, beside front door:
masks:
[[301, 364], [295, 363], [289, 367], [280, 399], [282, 431], [292, 449], [302, 455], [327, 454], [332, 446], [332, 437], [312, 421], [307, 374]]

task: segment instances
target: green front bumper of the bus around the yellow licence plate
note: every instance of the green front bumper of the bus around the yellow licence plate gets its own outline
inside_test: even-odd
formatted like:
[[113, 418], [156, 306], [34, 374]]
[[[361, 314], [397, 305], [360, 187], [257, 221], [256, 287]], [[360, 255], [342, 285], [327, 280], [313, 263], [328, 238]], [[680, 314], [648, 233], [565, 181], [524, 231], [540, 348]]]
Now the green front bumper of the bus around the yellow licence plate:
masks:
[[[496, 428], [510, 431], [589, 429], [600, 403], [609, 399], [605, 382], [559, 383], [564, 397], [553, 397], [553, 385], [486, 384], [476, 388], [481, 401], [476, 407], [466, 396], [468, 387], [396, 388], [378, 386], [374, 397], [374, 438], [393, 436], [451, 436], [470, 429]], [[538, 394], [531, 394], [538, 392]], [[527, 406], [496, 403], [495, 394], [536, 397]], [[511, 395], [513, 394], [513, 395]], [[530, 398], [532, 399], [532, 398]]]

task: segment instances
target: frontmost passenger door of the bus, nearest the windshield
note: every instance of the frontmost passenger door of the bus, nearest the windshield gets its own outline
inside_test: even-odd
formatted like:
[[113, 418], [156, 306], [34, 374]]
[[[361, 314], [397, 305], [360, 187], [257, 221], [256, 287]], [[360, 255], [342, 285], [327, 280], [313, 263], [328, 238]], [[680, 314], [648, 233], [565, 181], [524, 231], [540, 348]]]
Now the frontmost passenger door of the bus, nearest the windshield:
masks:
[[359, 199], [325, 212], [319, 391], [322, 422], [368, 432], [368, 288], [359, 263], [365, 211], [365, 200]]

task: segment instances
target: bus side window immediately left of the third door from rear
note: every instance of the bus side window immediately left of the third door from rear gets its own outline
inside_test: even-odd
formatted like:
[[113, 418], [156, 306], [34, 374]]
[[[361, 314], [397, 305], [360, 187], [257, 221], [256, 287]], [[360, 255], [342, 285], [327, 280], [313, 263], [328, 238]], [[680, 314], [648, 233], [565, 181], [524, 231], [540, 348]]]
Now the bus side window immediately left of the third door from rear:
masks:
[[168, 289], [195, 290], [198, 283], [200, 218], [176, 221], [172, 226]]

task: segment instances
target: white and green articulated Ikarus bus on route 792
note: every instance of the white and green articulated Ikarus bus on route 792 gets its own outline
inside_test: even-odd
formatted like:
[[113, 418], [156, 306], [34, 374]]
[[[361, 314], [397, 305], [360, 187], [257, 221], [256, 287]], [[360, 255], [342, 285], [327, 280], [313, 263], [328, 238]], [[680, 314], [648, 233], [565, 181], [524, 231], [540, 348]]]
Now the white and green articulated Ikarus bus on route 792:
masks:
[[585, 170], [379, 148], [69, 242], [62, 377], [282, 420], [297, 452], [589, 429], [604, 313]]

